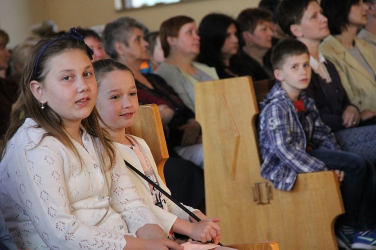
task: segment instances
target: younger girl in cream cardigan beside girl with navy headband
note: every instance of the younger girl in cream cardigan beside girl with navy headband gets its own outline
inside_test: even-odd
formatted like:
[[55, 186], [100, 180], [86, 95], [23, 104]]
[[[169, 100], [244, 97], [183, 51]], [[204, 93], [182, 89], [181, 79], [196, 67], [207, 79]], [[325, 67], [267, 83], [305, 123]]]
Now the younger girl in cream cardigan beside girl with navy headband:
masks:
[[[93, 66], [98, 83], [96, 106], [104, 121], [101, 125], [117, 142], [125, 160], [169, 192], [158, 175], [145, 141], [125, 134], [125, 128], [133, 124], [138, 112], [137, 88], [132, 72], [123, 64], [111, 59], [100, 60]], [[208, 218], [199, 210], [187, 207], [203, 219], [198, 223], [191, 223], [189, 221], [194, 220], [192, 217], [138, 174], [130, 170], [129, 175], [135, 183], [137, 192], [162, 223], [165, 233], [173, 231], [203, 242], [212, 239], [215, 243], [219, 242], [221, 228], [215, 223], [219, 221], [218, 218]]]

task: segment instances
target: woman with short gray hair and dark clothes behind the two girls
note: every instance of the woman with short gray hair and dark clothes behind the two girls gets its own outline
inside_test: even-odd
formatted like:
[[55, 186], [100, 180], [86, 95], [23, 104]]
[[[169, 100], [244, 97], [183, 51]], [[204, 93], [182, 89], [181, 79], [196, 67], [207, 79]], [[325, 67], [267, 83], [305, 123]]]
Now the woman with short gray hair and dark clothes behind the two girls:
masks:
[[[203, 150], [201, 143], [195, 144], [200, 137], [200, 124], [163, 78], [140, 72], [141, 63], [149, 59], [149, 44], [144, 39], [144, 30], [144, 26], [135, 19], [119, 18], [105, 27], [104, 48], [113, 60], [133, 72], [139, 103], [155, 103], [159, 107], [169, 154], [164, 167], [168, 188], [180, 202], [203, 210], [204, 173], [197, 166], [203, 165]], [[185, 145], [193, 153], [183, 155], [175, 151], [176, 147], [184, 148]]]

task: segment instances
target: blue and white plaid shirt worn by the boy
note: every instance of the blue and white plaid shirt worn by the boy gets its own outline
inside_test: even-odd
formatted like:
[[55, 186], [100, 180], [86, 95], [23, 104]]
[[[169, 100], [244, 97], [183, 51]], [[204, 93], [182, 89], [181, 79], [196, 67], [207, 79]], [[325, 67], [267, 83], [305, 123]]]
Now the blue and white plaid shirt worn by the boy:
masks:
[[264, 160], [261, 175], [277, 189], [290, 190], [298, 173], [327, 170], [322, 161], [306, 152], [307, 144], [339, 150], [333, 133], [321, 121], [314, 101], [304, 91], [300, 97], [305, 106], [302, 123], [278, 81], [260, 103], [260, 147]]

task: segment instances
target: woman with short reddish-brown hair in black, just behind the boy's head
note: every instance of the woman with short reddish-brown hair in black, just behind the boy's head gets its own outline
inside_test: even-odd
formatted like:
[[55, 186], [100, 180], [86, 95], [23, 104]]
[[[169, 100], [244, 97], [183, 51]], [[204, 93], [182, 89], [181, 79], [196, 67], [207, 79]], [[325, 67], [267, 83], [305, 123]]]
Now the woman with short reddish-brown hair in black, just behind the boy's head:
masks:
[[273, 14], [270, 11], [251, 8], [243, 10], [236, 21], [242, 34], [241, 49], [231, 59], [231, 71], [238, 76], [251, 76], [253, 81], [274, 78], [266, 57], [272, 48]]

